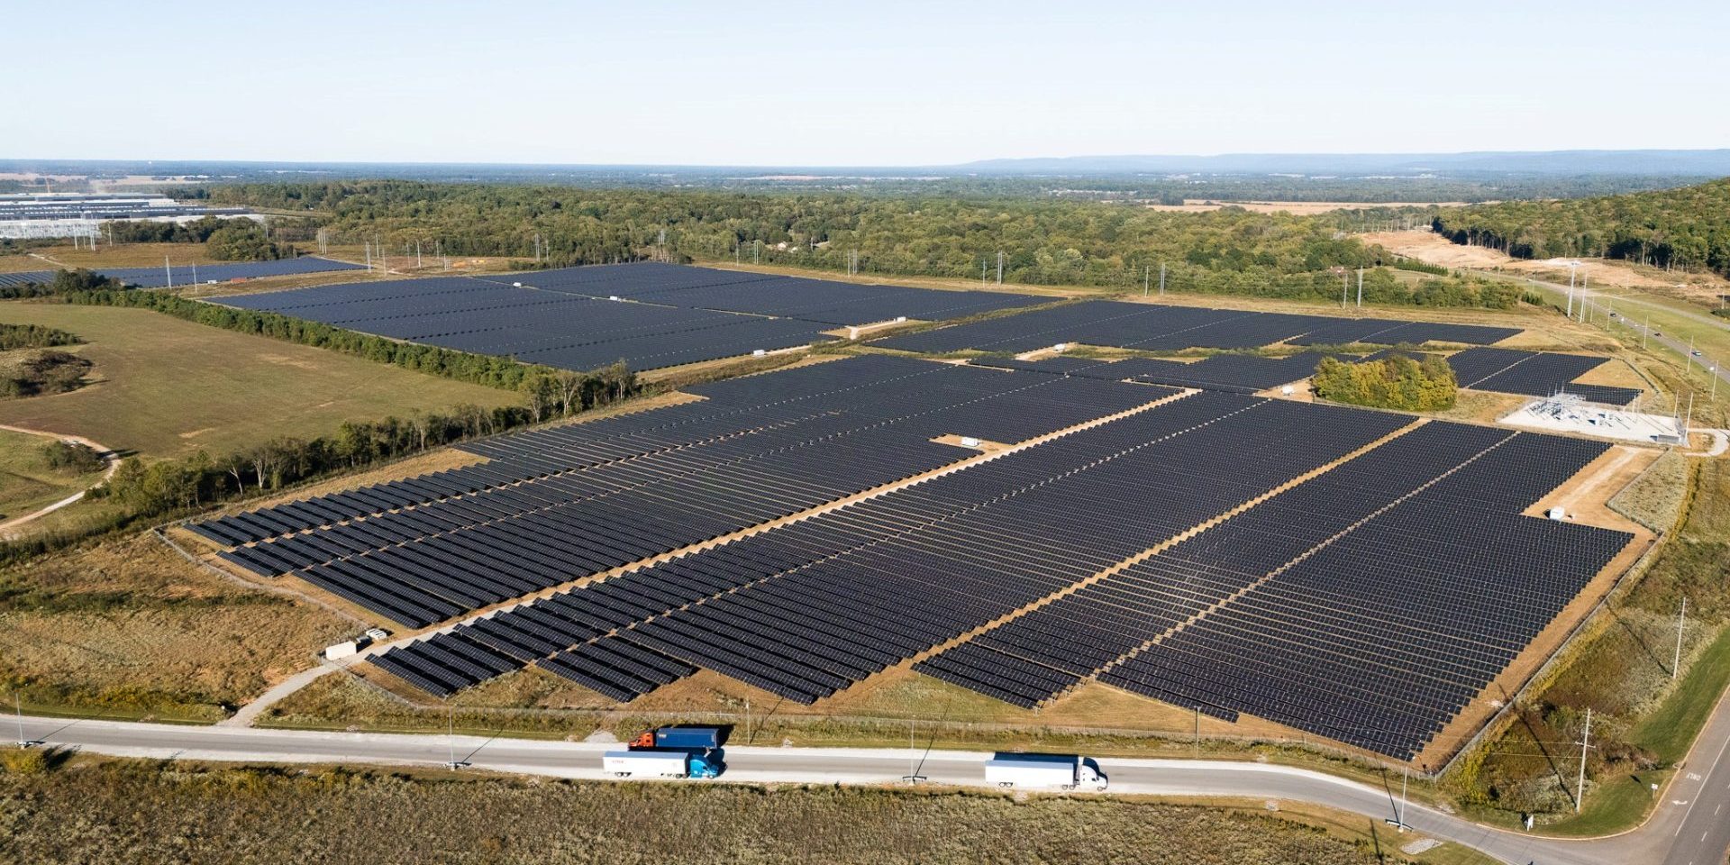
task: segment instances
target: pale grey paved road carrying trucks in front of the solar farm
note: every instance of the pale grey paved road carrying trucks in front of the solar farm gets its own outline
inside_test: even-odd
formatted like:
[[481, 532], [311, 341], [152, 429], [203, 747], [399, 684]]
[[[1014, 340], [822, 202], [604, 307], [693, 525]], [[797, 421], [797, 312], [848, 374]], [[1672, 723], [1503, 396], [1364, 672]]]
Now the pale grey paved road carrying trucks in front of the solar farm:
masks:
[[[600, 753], [619, 747], [597, 742], [533, 739], [481, 739], [445, 735], [339, 734], [260, 730], [235, 727], [180, 727], [159, 723], [31, 718], [21, 721], [26, 739], [111, 756], [151, 759], [253, 761], [253, 763], [367, 763], [443, 766], [452, 759], [477, 770], [597, 778]], [[1502, 862], [1540, 865], [1721, 865], [1730, 848], [1730, 713], [1714, 714], [1685, 773], [1668, 792], [1673, 804], [1659, 808], [1637, 832], [1600, 841], [1554, 841], [1483, 827], [1422, 804], [1400, 801], [1398, 778], [1370, 787], [1320, 772], [1263, 763], [1197, 759], [1100, 759], [1111, 791], [1149, 796], [1233, 796], [1306, 801], [1363, 815], [1381, 825], [1403, 815], [1412, 832], [1488, 853]], [[990, 758], [976, 751], [728, 747], [732, 782], [754, 784], [903, 784], [908, 775], [926, 784], [983, 785]], [[685, 782], [706, 784], [706, 782]]]

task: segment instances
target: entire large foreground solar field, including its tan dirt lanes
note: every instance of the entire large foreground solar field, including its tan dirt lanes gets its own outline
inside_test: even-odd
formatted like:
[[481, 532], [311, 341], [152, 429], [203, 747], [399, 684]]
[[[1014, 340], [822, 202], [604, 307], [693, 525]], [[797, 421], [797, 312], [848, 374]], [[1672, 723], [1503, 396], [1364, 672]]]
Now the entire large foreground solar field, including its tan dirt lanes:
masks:
[[734, 379], [190, 529], [439, 626], [370, 661], [441, 697], [538, 668], [633, 702], [706, 671], [820, 708], [912, 670], [1408, 761], [1633, 548], [1531, 516], [1607, 445], [1043, 363], [1066, 374], [867, 355]]

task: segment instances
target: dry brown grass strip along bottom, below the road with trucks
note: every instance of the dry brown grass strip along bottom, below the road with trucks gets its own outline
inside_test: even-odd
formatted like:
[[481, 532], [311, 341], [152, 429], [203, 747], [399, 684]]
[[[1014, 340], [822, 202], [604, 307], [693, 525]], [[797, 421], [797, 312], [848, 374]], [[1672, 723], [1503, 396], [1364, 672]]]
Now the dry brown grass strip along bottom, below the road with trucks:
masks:
[[[31, 753], [35, 754], [35, 753]], [[10, 761], [9, 761], [10, 763]], [[1228, 808], [1218, 808], [1228, 804]], [[1003, 863], [1375, 862], [1362, 823], [965, 792], [452, 780], [95, 763], [0, 773], [19, 862]], [[500, 820], [500, 815], [510, 815]], [[1386, 837], [1382, 839], [1387, 841]], [[1420, 862], [1462, 858], [1451, 846]]]

